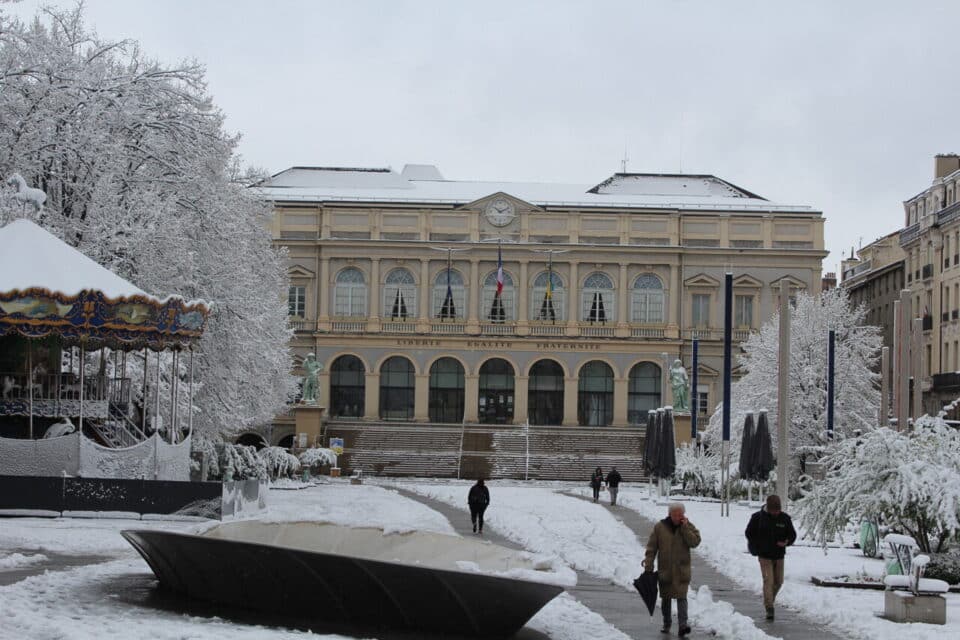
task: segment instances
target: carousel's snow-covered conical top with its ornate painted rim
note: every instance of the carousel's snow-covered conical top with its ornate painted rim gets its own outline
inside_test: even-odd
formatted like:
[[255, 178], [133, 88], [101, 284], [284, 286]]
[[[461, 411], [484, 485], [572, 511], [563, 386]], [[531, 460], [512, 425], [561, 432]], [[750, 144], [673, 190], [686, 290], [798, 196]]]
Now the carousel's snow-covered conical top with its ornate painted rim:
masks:
[[196, 341], [209, 311], [148, 295], [29, 220], [0, 228], [0, 335], [160, 350]]

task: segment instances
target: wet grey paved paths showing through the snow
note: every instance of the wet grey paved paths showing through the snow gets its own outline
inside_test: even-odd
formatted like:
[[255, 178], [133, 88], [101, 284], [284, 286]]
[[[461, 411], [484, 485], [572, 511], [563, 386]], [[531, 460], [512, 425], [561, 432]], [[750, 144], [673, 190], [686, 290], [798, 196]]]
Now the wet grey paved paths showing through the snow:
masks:
[[[453, 528], [461, 535], [475, 535], [470, 525], [470, 514], [466, 507], [459, 509], [451, 507], [444, 502], [426, 498], [420, 494], [408, 491], [401, 487], [394, 486], [402, 495], [416, 500], [435, 511], [443, 514], [453, 525]], [[589, 500], [582, 496], [570, 495], [573, 498]], [[642, 517], [636, 511], [623, 507], [607, 507], [612, 509], [614, 517], [623, 522], [631, 531], [636, 534], [641, 543], [645, 544], [653, 529], [654, 521]], [[496, 544], [520, 549], [516, 543], [508, 540], [497, 533], [489, 523], [484, 527], [483, 537]], [[758, 569], [759, 570], [759, 569]], [[714, 594], [714, 599], [724, 600], [733, 605], [741, 614], [751, 617], [755, 620], [757, 627], [772, 636], [781, 637], [785, 640], [808, 640], [809, 638], [818, 638], [818, 640], [840, 640], [839, 636], [827, 631], [815, 622], [803, 619], [794, 611], [784, 607], [777, 608], [777, 620], [767, 622], [764, 618], [763, 603], [759, 595], [746, 591], [738, 587], [732, 580], [718, 572], [707, 564], [699, 554], [693, 554], [693, 588], [701, 584], [708, 585]], [[600, 614], [603, 618], [615, 626], [617, 629], [635, 640], [664, 640], [666, 636], [660, 633], [660, 612], [654, 611], [654, 615], [647, 614], [640, 597], [634, 591], [626, 591], [622, 587], [611, 584], [608, 579], [592, 576], [583, 571], [577, 571], [577, 586], [568, 589], [574, 598], [589, 607], [592, 611]], [[674, 612], [674, 626], [671, 637], [676, 637], [676, 612]], [[529, 636], [528, 636], [529, 637]], [[713, 637], [702, 630], [694, 629], [688, 636], [692, 640], [706, 639]]]

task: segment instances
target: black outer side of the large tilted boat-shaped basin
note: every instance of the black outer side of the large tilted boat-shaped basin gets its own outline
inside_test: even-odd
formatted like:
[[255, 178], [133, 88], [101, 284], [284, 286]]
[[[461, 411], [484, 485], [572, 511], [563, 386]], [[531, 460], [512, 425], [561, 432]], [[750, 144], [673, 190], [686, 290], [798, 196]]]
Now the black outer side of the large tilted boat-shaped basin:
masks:
[[167, 531], [123, 537], [163, 587], [327, 626], [508, 637], [563, 588]]

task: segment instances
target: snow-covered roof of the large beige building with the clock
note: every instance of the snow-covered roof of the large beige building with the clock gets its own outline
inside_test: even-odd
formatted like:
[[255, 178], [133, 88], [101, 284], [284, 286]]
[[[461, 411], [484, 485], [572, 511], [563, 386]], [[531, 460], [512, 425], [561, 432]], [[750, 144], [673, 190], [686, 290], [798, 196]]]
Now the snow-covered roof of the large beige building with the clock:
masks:
[[776, 211], [819, 214], [777, 204], [705, 174], [616, 173], [600, 184], [445, 180], [433, 165], [389, 168], [291, 167], [255, 188], [280, 202], [383, 202], [463, 205], [506, 193], [542, 207]]

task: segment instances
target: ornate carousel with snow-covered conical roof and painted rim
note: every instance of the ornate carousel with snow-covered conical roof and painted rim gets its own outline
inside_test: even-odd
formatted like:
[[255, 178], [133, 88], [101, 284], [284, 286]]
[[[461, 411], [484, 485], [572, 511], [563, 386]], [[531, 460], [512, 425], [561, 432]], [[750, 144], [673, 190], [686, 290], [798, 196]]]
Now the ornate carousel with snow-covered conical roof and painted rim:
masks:
[[188, 480], [208, 313], [29, 220], [0, 228], [0, 476]]

